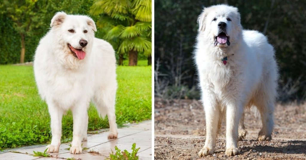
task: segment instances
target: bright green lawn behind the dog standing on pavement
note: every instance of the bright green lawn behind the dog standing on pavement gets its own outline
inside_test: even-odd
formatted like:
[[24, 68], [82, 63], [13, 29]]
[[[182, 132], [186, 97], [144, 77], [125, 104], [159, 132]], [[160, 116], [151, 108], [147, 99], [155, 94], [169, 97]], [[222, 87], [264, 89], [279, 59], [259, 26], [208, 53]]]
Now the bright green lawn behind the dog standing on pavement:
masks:
[[[118, 66], [116, 116], [120, 126], [151, 119], [151, 66]], [[109, 127], [91, 104], [88, 130]], [[72, 138], [71, 112], [63, 117], [62, 141]], [[0, 66], [0, 149], [50, 142], [47, 104], [36, 88], [32, 66]]]

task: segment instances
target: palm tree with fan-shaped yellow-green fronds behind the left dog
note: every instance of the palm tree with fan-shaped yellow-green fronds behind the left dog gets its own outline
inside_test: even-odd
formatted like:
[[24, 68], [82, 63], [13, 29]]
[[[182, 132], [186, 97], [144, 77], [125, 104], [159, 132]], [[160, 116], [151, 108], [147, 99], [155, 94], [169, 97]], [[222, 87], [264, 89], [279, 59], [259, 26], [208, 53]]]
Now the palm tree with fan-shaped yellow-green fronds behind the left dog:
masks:
[[[119, 55], [129, 55], [129, 66], [137, 65], [138, 53], [151, 57], [152, 0], [96, 0], [90, 13], [101, 15], [97, 26]], [[151, 62], [151, 61], [150, 61]], [[151, 65], [151, 64], [150, 64]]]

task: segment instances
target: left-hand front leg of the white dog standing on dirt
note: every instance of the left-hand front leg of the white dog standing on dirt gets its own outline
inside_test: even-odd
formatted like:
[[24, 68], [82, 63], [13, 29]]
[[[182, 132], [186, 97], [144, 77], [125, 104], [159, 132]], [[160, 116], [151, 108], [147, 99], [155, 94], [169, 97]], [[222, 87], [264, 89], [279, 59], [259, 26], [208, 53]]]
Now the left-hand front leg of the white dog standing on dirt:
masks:
[[213, 93], [203, 92], [203, 104], [206, 117], [206, 140], [204, 147], [199, 151], [200, 157], [212, 155], [215, 151], [220, 108]]

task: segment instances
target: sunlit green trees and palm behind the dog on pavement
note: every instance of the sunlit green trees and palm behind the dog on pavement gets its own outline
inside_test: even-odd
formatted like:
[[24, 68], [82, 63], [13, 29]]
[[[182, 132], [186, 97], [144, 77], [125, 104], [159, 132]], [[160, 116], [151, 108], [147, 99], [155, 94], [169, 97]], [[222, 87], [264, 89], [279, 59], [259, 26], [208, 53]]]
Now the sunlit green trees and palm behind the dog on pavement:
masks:
[[137, 59], [151, 65], [151, 0], [2, 0], [0, 64], [32, 61], [58, 11], [89, 15], [97, 25], [95, 36], [113, 45], [119, 65], [125, 59], [129, 66], [136, 66]]

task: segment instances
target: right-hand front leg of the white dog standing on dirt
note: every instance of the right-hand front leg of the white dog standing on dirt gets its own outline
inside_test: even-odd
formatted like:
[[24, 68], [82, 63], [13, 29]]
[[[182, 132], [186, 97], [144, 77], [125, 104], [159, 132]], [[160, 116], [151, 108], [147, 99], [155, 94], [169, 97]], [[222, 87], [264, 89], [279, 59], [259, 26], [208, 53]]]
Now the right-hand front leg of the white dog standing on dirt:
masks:
[[226, 156], [238, 155], [238, 123], [243, 113], [241, 103], [229, 103], [226, 106]]

